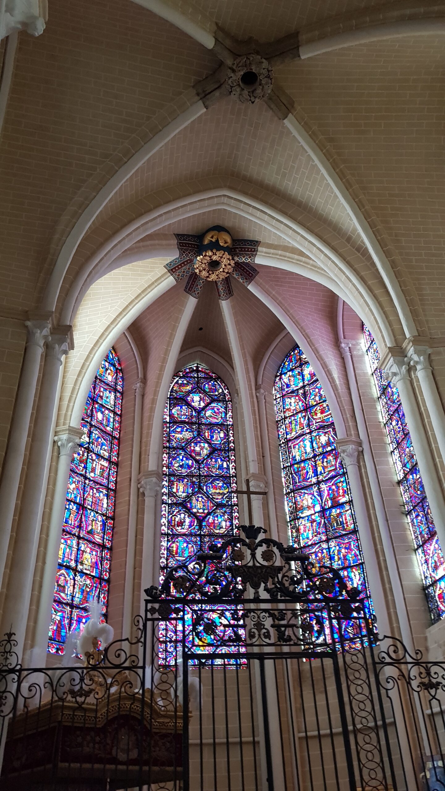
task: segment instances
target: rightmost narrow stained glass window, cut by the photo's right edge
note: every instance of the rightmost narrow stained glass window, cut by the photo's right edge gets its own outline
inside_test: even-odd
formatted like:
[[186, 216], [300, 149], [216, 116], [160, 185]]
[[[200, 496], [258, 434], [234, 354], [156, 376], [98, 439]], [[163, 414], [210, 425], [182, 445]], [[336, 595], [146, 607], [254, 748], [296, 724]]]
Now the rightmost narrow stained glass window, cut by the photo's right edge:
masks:
[[435, 623], [445, 616], [445, 562], [442, 550], [435, 532], [398, 389], [394, 384], [386, 381], [382, 369], [378, 368], [380, 354], [377, 344], [364, 324], [363, 339], [390, 442], [401, 497], [413, 536], [417, 562], [424, 581], [428, 607], [432, 621]]

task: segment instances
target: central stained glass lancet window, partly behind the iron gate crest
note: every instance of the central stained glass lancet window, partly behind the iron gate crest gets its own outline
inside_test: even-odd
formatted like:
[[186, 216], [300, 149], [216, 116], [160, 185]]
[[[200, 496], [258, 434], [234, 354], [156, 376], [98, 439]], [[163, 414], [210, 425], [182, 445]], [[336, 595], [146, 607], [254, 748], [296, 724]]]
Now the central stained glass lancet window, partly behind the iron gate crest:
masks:
[[[236, 490], [230, 392], [211, 370], [189, 365], [173, 377], [164, 413], [161, 581], [173, 566], [192, 562], [196, 553], [238, 533]], [[238, 610], [203, 607], [218, 630]], [[166, 628], [164, 660], [173, 664], [179, 635], [173, 634], [176, 627]], [[191, 623], [186, 628], [190, 643]], [[211, 652], [211, 635], [194, 633], [194, 649]]]

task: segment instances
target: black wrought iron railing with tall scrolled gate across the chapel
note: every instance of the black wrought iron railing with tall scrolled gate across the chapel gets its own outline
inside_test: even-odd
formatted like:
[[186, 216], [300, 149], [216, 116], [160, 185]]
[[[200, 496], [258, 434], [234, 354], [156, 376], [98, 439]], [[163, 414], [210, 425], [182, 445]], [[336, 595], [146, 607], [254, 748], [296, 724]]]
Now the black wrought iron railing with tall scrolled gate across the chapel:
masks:
[[146, 591], [132, 641], [23, 668], [6, 635], [0, 789], [444, 791], [445, 663], [242, 529]]

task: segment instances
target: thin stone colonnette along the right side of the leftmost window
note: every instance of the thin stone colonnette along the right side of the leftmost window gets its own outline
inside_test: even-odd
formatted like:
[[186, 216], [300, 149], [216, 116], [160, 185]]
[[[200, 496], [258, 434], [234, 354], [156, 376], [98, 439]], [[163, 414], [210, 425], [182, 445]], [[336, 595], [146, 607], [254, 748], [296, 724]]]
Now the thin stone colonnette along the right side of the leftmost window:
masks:
[[143, 420], [143, 392], [145, 380], [138, 379], [133, 386], [135, 391], [135, 426], [133, 430], [133, 452], [131, 455], [130, 509], [128, 512], [127, 562], [125, 566], [124, 616], [122, 637], [131, 637], [133, 615], [133, 593], [135, 582], [136, 528], [138, 522], [138, 476], [141, 456], [141, 430]]

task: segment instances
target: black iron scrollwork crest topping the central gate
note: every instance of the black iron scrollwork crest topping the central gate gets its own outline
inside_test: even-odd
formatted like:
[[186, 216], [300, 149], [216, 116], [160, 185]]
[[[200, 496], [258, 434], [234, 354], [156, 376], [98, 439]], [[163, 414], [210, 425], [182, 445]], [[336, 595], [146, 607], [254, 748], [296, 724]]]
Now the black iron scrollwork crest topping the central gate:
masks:
[[322, 566], [302, 554], [297, 547], [259, 538], [264, 528], [241, 525], [245, 535], [211, 544], [208, 552], [198, 552], [186, 563], [166, 573], [162, 585], [146, 589], [150, 600], [237, 600], [253, 590], [253, 599], [329, 601], [342, 618], [363, 613], [359, 590], [348, 587], [333, 566]]

